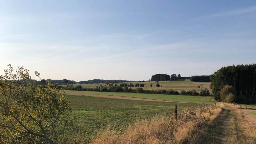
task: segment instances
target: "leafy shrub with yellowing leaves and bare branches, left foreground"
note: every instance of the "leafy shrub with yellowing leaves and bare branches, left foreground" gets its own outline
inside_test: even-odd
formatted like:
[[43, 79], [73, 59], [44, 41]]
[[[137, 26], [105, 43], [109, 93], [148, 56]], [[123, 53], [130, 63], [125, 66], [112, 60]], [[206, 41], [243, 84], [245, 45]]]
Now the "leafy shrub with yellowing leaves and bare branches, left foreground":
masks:
[[26, 68], [8, 66], [0, 76], [0, 142], [60, 143], [75, 118], [68, 97], [50, 83], [36, 84]]

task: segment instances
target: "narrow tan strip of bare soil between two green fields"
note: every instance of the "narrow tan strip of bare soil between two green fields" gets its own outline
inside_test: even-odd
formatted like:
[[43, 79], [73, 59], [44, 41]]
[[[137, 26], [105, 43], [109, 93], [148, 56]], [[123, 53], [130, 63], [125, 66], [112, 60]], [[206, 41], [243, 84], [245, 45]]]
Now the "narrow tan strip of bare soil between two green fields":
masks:
[[66, 92], [66, 94], [67, 94], [67, 95], [80, 95], [80, 96], [102, 97], [102, 98], [114, 98], [114, 99], [155, 101], [155, 102], [190, 103], [190, 102], [176, 102], [176, 101], [165, 101], [165, 100], [155, 100], [155, 99], [145, 99], [145, 98], [134, 98], [134, 97], [124, 97], [124, 96], [111, 96], [111, 95], [99, 95], [99, 94], [87, 94], [87, 93], [78, 94], [78, 93]]

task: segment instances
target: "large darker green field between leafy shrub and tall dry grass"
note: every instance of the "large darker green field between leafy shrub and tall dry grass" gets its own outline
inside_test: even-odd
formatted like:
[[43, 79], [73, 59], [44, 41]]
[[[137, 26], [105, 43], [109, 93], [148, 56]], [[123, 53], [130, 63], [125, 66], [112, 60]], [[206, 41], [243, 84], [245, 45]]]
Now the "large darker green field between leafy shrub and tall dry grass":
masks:
[[81, 132], [78, 137], [86, 137], [88, 142], [100, 130], [108, 125], [116, 128], [127, 126], [136, 119], [150, 118], [155, 115], [173, 115], [175, 105], [178, 111], [194, 109], [198, 104], [170, 103], [110, 99], [89, 96], [68, 95]]

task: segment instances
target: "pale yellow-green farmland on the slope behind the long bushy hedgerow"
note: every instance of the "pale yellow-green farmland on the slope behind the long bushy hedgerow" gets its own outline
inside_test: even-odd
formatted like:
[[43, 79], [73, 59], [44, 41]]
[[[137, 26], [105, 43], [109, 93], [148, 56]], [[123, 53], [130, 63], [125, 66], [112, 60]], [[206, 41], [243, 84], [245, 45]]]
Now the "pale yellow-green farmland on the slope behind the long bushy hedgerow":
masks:
[[[204, 88], [210, 89], [211, 83], [193, 83], [190, 80], [178, 80], [178, 81], [159, 81], [160, 86], [162, 87], [156, 87], [156, 82], [131, 82], [131, 84], [145, 84], [145, 87], [143, 87], [144, 90], [176, 90], [176, 91], [189, 91], [189, 90], [196, 90], [197, 92], [200, 92], [200, 90]], [[124, 83], [115, 83], [117, 85], [124, 84]], [[130, 83], [126, 83], [130, 84]], [[150, 87], [150, 84], [152, 84], [152, 87]], [[85, 88], [95, 88], [96, 86], [105, 86], [107, 84], [105, 83], [94, 83], [94, 84], [81, 84], [82, 87]], [[61, 85], [63, 87], [66, 87], [67, 85]], [[75, 87], [76, 85], [70, 85], [72, 87]], [[200, 86], [200, 88], [198, 87]], [[132, 89], [136, 89], [137, 87], [131, 87]]]

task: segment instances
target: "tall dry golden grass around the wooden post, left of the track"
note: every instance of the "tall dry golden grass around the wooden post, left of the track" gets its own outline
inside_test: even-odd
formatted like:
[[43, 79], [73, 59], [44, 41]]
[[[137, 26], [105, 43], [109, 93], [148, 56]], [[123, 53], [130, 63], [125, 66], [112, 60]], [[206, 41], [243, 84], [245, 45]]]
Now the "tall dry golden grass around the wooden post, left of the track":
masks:
[[[194, 111], [184, 110], [173, 116], [156, 116], [136, 121], [124, 129], [108, 127], [92, 144], [195, 144], [204, 143], [205, 126], [215, 120], [221, 108], [200, 106]], [[173, 114], [172, 114], [173, 115]]]

